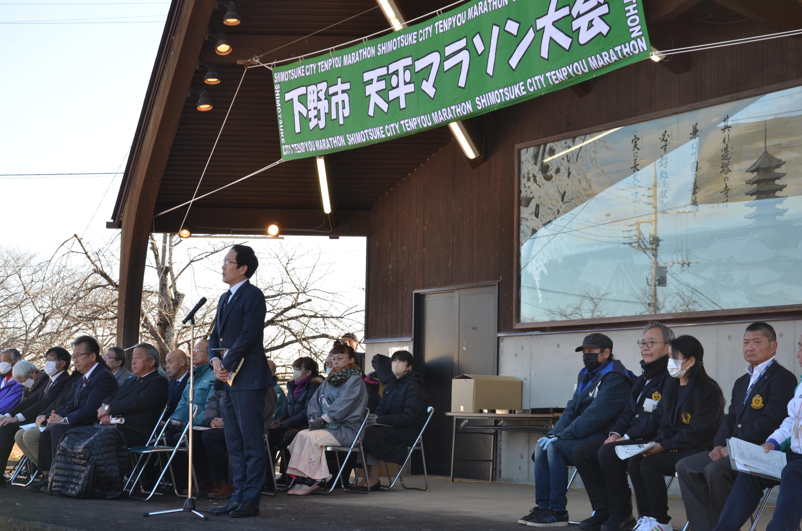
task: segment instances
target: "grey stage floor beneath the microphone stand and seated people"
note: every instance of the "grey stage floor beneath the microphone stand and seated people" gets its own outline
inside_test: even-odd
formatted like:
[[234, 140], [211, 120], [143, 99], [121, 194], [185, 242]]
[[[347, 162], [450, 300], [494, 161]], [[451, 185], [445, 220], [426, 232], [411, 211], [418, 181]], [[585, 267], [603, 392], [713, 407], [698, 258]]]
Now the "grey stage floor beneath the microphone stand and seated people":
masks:
[[[386, 484], [386, 478], [383, 478]], [[408, 478], [407, 484], [421, 483]], [[569, 493], [571, 520], [589, 516], [590, 505], [585, 492]], [[198, 509], [208, 509], [225, 500], [196, 501]], [[159, 497], [156, 501], [75, 500], [45, 493], [28, 492], [25, 488], [0, 489], [0, 531], [64, 531], [93, 529], [98, 531], [142, 531], [159, 529], [208, 529], [209, 531], [247, 531], [249, 529], [314, 530], [411, 529], [443, 531], [443, 529], [512, 530], [533, 529], [517, 523], [534, 505], [534, 487], [500, 483], [475, 483], [432, 477], [427, 492], [405, 491], [396, 485], [391, 492], [373, 492], [367, 496], [335, 491], [330, 496], [278, 497], [263, 496], [261, 514], [257, 518], [235, 519], [209, 517], [209, 521], [174, 513], [149, 518], [146, 511], [176, 509], [183, 499]], [[685, 511], [682, 501], [669, 500], [672, 524], [682, 529]], [[766, 509], [758, 529], [765, 529], [773, 509]], [[569, 526], [563, 529], [578, 529]], [[745, 525], [743, 529], [748, 529]]]

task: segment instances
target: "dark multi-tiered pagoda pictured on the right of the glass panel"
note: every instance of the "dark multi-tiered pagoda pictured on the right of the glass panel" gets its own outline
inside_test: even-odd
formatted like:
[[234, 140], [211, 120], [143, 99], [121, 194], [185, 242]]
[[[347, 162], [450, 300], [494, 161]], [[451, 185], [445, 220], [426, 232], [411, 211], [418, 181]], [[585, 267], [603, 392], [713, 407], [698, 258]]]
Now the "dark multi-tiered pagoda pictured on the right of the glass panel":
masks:
[[747, 206], [754, 207], [755, 210], [744, 217], [755, 220], [751, 225], [751, 228], [755, 229], [772, 227], [781, 223], [778, 218], [788, 212], [788, 209], [780, 208], [780, 203], [785, 201], [785, 197], [777, 195], [777, 193], [783, 191], [787, 184], [778, 184], [776, 182], [785, 176], [785, 173], [776, 171], [777, 168], [785, 164], [785, 160], [780, 160], [768, 152], [768, 133], [765, 123], [763, 146], [763, 154], [760, 155], [758, 160], [755, 160], [755, 164], [752, 164], [747, 169], [747, 172], [755, 173], [755, 176], [746, 181], [747, 184], [752, 185], [746, 195], [755, 198], [749, 201]]

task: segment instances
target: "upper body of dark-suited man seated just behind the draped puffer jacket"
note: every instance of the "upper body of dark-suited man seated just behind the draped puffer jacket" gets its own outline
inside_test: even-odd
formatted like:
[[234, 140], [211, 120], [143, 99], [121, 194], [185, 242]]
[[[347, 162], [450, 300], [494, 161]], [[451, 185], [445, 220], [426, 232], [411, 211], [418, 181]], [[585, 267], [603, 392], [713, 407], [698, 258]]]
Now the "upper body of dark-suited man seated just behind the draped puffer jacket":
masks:
[[123, 418], [117, 431], [130, 448], [148, 442], [148, 435], [167, 403], [167, 380], [159, 375], [159, 351], [148, 343], [134, 347], [131, 357], [133, 377], [126, 380], [117, 394], [98, 408], [100, 424]]

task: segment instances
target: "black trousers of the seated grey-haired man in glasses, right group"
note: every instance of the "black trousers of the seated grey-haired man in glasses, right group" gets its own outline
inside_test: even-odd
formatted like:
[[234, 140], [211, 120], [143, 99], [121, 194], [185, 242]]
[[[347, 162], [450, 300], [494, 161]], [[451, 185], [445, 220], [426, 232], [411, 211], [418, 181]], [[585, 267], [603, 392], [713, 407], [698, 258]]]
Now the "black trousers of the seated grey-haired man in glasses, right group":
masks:
[[[573, 448], [573, 464], [585, 484], [590, 505], [594, 511], [610, 514], [632, 514], [632, 491], [626, 480], [629, 464], [616, 455], [615, 447], [624, 444], [641, 444], [642, 440], [622, 440], [604, 444], [603, 440], [591, 440]], [[648, 509], [642, 492], [635, 492], [638, 513], [643, 516]]]

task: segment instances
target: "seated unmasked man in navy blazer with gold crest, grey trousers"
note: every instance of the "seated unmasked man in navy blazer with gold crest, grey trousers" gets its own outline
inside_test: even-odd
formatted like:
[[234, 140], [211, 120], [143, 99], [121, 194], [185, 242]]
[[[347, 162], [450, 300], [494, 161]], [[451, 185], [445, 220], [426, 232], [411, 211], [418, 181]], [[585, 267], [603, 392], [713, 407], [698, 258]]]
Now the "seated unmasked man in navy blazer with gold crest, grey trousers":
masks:
[[679, 488], [694, 531], [710, 531], [721, 517], [738, 472], [732, 469], [727, 439], [764, 444], [787, 416], [796, 376], [776, 361], [777, 336], [765, 322], [753, 322], [743, 334], [747, 373], [735, 380], [730, 411], [716, 434], [712, 452], [677, 462]]

